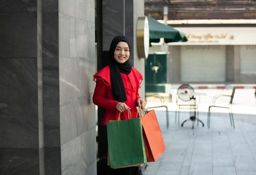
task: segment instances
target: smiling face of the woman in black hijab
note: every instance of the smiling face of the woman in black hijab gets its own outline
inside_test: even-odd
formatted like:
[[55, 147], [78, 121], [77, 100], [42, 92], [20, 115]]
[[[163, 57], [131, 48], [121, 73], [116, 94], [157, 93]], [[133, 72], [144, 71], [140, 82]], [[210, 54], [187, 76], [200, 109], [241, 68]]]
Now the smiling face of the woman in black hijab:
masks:
[[119, 63], [124, 63], [129, 59], [129, 56], [130, 50], [128, 44], [124, 41], [118, 42], [114, 51], [115, 60]]

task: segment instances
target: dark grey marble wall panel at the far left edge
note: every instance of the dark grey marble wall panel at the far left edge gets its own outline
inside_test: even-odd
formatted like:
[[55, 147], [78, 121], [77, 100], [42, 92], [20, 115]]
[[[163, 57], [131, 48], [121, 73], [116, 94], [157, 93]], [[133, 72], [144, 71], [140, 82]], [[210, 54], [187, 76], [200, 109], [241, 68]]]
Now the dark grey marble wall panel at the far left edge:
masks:
[[0, 1], [0, 174], [39, 174], [37, 0]]

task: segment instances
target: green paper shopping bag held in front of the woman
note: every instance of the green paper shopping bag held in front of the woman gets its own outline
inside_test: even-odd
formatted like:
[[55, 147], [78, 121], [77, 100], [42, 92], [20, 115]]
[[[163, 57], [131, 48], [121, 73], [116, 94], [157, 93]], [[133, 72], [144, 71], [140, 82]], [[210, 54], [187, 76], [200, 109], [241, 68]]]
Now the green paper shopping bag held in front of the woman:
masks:
[[[120, 116], [120, 113], [119, 113]], [[139, 166], [147, 162], [140, 118], [107, 123], [110, 167]]]

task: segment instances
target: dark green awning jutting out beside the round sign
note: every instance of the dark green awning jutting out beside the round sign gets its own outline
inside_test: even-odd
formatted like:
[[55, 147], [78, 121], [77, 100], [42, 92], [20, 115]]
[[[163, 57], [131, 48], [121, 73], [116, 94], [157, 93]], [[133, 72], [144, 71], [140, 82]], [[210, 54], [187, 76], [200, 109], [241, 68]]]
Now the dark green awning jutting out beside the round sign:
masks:
[[152, 17], [147, 16], [149, 25], [149, 42], [159, 42], [163, 37], [167, 42], [183, 42], [187, 41], [185, 33], [174, 29], [169, 25], [158, 22]]

